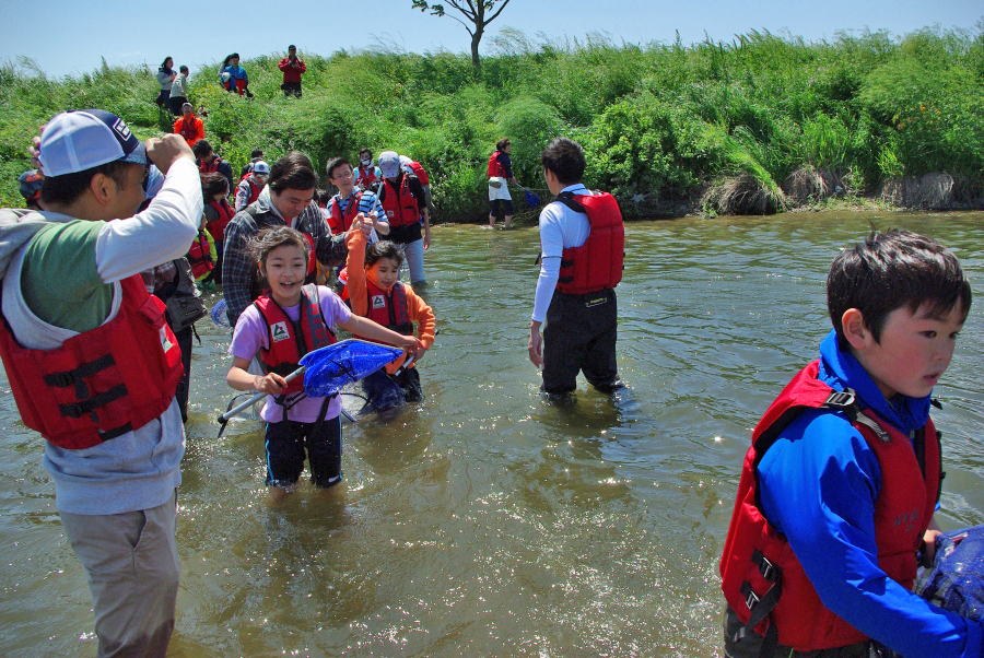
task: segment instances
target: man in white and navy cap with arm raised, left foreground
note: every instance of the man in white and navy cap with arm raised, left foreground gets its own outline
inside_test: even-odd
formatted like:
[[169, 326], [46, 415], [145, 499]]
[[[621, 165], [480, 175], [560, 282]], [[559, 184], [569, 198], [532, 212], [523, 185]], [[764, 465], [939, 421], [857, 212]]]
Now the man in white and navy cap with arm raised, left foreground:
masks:
[[[198, 171], [180, 136], [143, 144], [96, 109], [52, 118], [38, 156], [45, 211], [0, 210], [0, 357], [24, 424], [47, 439], [98, 655], [164, 656], [178, 587], [181, 366], [139, 272], [195, 238]], [[164, 184], [134, 214], [150, 163]]]

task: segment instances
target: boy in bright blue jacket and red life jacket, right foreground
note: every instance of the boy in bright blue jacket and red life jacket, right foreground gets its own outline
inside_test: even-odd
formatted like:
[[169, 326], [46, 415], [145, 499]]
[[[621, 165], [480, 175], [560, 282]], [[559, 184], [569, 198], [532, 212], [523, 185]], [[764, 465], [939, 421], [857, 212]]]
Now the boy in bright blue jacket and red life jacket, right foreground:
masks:
[[929, 419], [971, 305], [957, 258], [891, 231], [845, 249], [834, 330], [752, 435], [724, 555], [725, 655], [981, 656], [984, 628], [912, 594], [941, 481]]

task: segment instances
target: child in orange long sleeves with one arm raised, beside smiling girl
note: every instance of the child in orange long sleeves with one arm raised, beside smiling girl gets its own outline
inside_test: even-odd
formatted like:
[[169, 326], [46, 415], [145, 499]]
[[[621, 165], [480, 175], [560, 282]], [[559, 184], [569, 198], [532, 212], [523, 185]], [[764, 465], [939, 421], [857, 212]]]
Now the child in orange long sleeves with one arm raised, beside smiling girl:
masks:
[[[361, 227], [364, 220], [364, 215], [359, 213], [352, 224]], [[382, 240], [366, 249], [365, 234], [350, 231], [348, 247], [345, 269], [352, 313], [403, 336], [413, 336], [415, 321], [417, 337], [422, 344], [413, 353], [413, 363], [408, 367], [400, 369], [403, 365], [401, 359], [387, 365], [385, 372], [380, 369], [362, 380], [366, 407], [382, 412], [403, 401], [418, 402], [423, 399], [423, 391], [420, 374], [414, 366], [434, 343], [434, 312], [409, 285], [397, 280], [403, 261], [403, 254], [397, 245]], [[393, 385], [394, 381], [397, 386]], [[395, 395], [397, 388], [400, 396]]]

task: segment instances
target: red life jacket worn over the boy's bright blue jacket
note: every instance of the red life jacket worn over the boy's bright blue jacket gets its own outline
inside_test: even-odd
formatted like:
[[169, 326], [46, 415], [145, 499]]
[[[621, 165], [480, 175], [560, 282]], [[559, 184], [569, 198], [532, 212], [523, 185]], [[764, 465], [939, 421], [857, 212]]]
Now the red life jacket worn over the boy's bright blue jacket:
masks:
[[818, 372], [818, 361], [800, 371], [755, 426], [721, 559], [722, 589], [738, 618], [761, 635], [774, 624], [778, 643], [797, 651], [842, 647], [868, 637], [823, 606], [786, 538], [762, 515], [757, 467], [780, 433], [806, 409], [854, 418], [853, 426], [881, 468], [875, 501], [878, 566], [906, 589], [915, 581], [916, 552], [940, 485], [939, 437], [932, 420], [910, 440], [870, 411], [860, 411], [854, 393], [836, 392], [817, 379]]

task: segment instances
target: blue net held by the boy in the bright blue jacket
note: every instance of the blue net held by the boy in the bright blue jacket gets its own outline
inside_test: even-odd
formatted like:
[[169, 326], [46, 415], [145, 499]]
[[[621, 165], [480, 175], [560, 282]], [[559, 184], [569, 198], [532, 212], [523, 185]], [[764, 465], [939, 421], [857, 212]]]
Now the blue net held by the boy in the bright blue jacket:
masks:
[[933, 567], [922, 569], [915, 592], [960, 616], [984, 619], [984, 526], [940, 534]]

